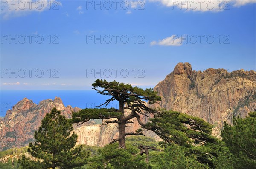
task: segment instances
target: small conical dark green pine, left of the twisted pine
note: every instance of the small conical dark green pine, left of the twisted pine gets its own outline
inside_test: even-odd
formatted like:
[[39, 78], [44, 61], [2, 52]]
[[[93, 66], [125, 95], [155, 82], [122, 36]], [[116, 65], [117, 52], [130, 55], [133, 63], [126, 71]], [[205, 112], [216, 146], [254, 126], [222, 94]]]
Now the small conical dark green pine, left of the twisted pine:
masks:
[[24, 169], [70, 169], [82, 166], [86, 163], [89, 152], [81, 151], [81, 146], [75, 148], [77, 135], [74, 132], [71, 134], [72, 130], [68, 119], [53, 108], [42, 120], [38, 131], [35, 131], [35, 143], [29, 143], [28, 152], [38, 161], [23, 156], [19, 163]]

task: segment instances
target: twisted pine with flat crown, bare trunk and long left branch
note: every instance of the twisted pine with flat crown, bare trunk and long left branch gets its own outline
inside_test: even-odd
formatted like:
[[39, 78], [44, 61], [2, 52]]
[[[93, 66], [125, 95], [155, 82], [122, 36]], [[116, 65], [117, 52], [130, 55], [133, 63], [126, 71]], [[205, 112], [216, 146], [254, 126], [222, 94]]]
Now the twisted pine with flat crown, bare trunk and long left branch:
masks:
[[[106, 121], [109, 123], [118, 124], [118, 138], [113, 140], [111, 143], [119, 142], [119, 148], [126, 148], [125, 137], [127, 135], [143, 135], [142, 130], [137, 132], [125, 132], [126, 124], [132, 123], [132, 118], [137, 118], [140, 125], [145, 126], [141, 121], [140, 115], [148, 116], [151, 113], [155, 115], [157, 111], [145, 105], [144, 101], [148, 101], [149, 104], [154, 104], [161, 100], [160, 96], [157, 96], [157, 92], [153, 89], [141, 89], [138, 87], [132, 87], [130, 84], [119, 83], [116, 81], [107, 82], [106, 80], [97, 79], [92, 84], [93, 89], [102, 95], [111, 96], [110, 99], [106, 100], [102, 105], [107, 106], [111, 101], [119, 102], [119, 109], [114, 108], [101, 108], [101, 109], [83, 109], [72, 114], [73, 122], [83, 124], [90, 119], [112, 119], [112, 121]], [[101, 88], [102, 90], [99, 90]], [[144, 101], [143, 101], [144, 100]], [[99, 105], [98, 107], [102, 106]], [[131, 110], [129, 114], [125, 110]], [[127, 112], [127, 113], [125, 113]]]

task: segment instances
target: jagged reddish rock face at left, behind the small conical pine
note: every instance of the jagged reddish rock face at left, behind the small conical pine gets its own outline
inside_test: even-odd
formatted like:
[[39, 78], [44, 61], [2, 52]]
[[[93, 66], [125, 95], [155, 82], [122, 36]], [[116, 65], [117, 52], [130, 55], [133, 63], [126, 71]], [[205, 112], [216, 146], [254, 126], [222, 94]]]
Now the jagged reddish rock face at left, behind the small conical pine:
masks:
[[67, 118], [71, 117], [72, 111], [79, 110], [77, 107], [65, 107], [58, 97], [53, 101], [52, 99], [41, 101], [38, 105], [24, 98], [12, 110], [8, 110], [4, 118], [0, 119], [0, 150], [26, 146], [33, 141], [35, 130], [53, 107], [60, 110]]

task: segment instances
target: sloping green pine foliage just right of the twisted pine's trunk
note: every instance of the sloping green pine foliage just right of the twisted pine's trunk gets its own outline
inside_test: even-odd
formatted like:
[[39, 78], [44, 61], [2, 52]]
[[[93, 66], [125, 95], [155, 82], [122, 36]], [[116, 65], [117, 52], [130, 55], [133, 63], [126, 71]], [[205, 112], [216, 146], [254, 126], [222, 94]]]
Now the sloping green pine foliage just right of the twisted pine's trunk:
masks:
[[201, 118], [187, 114], [162, 110], [162, 114], [150, 119], [147, 127], [163, 139], [160, 144], [166, 148], [177, 144], [186, 156], [193, 156], [205, 167], [215, 168], [214, 161], [219, 153], [228, 151], [223, 141], [211, 135], [212, 125]]

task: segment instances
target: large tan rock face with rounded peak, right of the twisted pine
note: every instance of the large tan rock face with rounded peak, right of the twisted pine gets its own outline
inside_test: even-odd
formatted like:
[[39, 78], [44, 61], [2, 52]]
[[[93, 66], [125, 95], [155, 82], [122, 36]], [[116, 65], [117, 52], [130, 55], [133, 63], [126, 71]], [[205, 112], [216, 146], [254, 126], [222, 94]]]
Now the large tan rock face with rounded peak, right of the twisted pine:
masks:
[[218, 136], [224, 121], [233, 115], [245, 117], [256, 111], [256, 72], [209, 68], [193, 71], [189, 63], [178, 63], [154, 90], [162, 97], [161, 107], [198, 116], [214, 125]]

